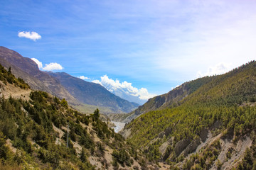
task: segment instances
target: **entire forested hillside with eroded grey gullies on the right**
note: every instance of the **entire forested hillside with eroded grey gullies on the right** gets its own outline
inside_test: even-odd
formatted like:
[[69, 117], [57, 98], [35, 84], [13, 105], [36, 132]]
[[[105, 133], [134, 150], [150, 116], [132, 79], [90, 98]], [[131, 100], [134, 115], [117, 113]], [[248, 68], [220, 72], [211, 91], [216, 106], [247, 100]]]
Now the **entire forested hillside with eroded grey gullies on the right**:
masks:
[[252, 169], [256, 166], [255, 101], [253, 61], [156, 96], [139, 108], [144, 114], [121, 134], [151, 159], [169, 162], [173, 168]]

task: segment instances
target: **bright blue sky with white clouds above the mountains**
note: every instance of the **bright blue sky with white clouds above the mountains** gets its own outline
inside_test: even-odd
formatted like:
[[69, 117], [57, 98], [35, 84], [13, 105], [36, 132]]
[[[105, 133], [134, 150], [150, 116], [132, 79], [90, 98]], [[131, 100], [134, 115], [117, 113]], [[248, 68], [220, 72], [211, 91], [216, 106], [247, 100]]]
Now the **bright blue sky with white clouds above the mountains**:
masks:
[[255, 0], [1, 1], [0, 45], [142, 100], [256, 58]]

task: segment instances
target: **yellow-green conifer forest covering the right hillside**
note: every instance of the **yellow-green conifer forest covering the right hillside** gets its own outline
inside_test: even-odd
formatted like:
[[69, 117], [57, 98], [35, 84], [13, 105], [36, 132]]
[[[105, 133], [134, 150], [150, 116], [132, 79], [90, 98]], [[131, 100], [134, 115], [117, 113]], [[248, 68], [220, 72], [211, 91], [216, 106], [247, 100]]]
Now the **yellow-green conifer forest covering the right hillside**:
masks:
[[[227, 74], [188, 82], [186, 86], [191, 86], [191, 93], [183, 100], [176, 102], [175, 105], [172, 104], [169, 108], [149, 111], [126, 125], [125, 129], [132, 131], [132, 136], [127, 141], [144, 149], [144, 152], [153, 159], [176, 164], [183, 161], [182, 156], [179, 157], [180, 152], [177, 151], [176, 144], [183, 140], [192, 142], [201, 135], [202, 130], [210, 129], [215, 123], [221, 126], [213, 134], [232, 132], [235, 137], [242, 137], [255, 132], [255, 61], [233, 69]], [[164, 133], [162, 137], [159, 135], [161, 133]], [[158, 140], [152, 142], [155, 141], [154, 139]], [[169, 141], [169, 147], [164, 154], [161, 154], [158, 148], [166, 141]], [[255, 147], [255, 140], [253, 146]], [[254, 147], [250, 149], [251, 159], [243, 159], [240, 169], [254, 166], [256, 160], [256, 155], [253, 154]], [[200, 157], [188, 159], [183, 169], [191, 169], [192, 166], [208, 169], [220, 152], [218, 147], [214, 148], [206, 149]], [[196, 164], [195, 160], [198, 159], [204, 160], [202, 164], [208, 160], [207, 164], [204, 166]]]

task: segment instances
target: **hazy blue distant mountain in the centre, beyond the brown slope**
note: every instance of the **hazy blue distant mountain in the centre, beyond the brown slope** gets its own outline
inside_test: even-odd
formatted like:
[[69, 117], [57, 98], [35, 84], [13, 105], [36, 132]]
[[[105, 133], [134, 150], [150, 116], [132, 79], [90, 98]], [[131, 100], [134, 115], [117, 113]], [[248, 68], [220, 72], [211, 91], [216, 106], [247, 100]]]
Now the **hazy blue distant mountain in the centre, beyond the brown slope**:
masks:
[[65, 89], [82, 103], [95, 106], [105, 106], [112, 108], [116, 113], [128, 113], [139, 106], [137, 103], [131, 103], [107, 91], [100, 84], [87, 82], [82, 79], [72, 77], [67, 73], [47, 72], [51, 77], [60, 81]]

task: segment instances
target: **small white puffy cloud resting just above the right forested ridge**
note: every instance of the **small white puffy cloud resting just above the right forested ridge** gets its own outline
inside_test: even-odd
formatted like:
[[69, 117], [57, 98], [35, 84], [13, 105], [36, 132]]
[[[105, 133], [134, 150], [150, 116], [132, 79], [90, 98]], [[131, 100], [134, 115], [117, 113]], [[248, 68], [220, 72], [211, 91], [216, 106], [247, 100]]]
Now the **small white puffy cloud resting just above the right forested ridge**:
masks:
[[230, 64], [226, 63], [219, 63], [215, 65], [214, 67], [209, 67], [208, 71], [204, 74], [201, 73], [201, 71], [198, 71], [197, 77], [205, 77], [205, 76], [213, 76], [213, 75], [219, 75], [224, 74], [225, 72], [228, 72], [230, 70]]

